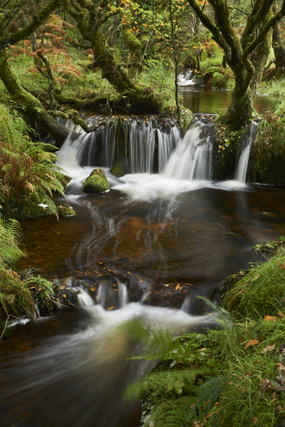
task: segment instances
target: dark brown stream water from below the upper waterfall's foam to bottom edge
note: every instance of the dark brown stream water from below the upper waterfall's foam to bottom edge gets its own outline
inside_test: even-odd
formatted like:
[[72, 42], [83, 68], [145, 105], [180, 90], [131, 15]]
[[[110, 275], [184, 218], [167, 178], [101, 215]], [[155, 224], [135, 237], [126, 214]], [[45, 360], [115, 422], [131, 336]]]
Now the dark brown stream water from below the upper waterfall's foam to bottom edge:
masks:
[[111, 190], [68, 201], [76, 217], [23, 221], [28, 260], [20, 267], [63, 278], [105, 265], [155, 292], [111, 312], [100, 305], [61, 312], [1, 340], [1, 426], [136, 427], [140, 405], [124, 391], [151, 365], [126, 362], [141, 344], [122, 325], [139, 320], [173, 335], [199, 330], [203, 317], [166, 308], [172, 291], [187, 283], [188, 309], [197, 314], [195, 295], [211, 298], [220, 280], [257, 260], [252, 245], [285, 232], [284, 190], [214, 184], [144, 200]]

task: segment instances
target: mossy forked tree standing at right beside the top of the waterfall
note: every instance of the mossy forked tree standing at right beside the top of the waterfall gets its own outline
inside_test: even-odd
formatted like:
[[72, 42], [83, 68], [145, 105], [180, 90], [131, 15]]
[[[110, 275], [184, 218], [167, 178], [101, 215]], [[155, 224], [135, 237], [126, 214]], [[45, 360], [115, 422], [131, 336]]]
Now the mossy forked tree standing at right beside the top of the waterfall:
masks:
[[227, 63], [233, 70], [234, 90], [225, 120], [229, 127], [237, 130], [252, 118], [253, 101], [269, 55], [272, 31], [285, 15], [285, 1], [282, 0], [274, 13], [274, 0], [255, 0], [240, 38], [232, 26], [232, 8], [226, 0], [209, 0], [213, 19], [204, 12], [204, 2], [188, 0], [188, 3], [224, 50], [224, 65]]

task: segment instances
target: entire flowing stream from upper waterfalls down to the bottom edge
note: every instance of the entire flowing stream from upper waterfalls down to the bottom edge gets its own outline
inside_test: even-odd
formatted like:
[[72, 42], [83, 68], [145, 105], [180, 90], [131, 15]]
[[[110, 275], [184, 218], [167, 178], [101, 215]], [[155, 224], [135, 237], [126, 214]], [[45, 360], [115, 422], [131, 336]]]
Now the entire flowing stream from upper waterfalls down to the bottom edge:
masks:
[[[104, 130], [100, 166], [111, 188], [101, 195], [82, 191], [96, 135], [68, 139], [60, 162], [74, 178], [67, 199], [77, 215], [22, 221], [28, 258], [19, 268], [71, 286], [82, 278], [90, 293], [78, 288], [81, 308], [39, 317], [0, 341], [1, 426], [138, 427], [140, 404], [124, 393], [154, 362], [126, 361], [143, 351], [134, 328], [151, 337], [156, 329], [176, 336], [215, 327], [197, 295], [215, 300], [221, 280], [260, 259], [255, 243], [284, 234], [283, 189], [212, 181], [211, 126], [196, 123], [180, 140], [149, 121], [131, 124], [125, 135], [140, 147], [130, 150], [136, 173], [121, 179], [109, 171], [114, 139]], [[148, 149], [154, 129], [159, 174]]]

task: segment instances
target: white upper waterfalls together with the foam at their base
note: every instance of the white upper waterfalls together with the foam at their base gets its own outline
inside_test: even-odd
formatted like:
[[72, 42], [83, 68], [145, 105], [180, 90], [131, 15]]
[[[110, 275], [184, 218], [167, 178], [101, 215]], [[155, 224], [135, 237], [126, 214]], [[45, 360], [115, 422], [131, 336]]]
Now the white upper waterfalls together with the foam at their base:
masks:
[[[115, 154], [115, 122], [110, 122], [110, 126], [104, 129], [101, 127], [101, 137], [105, 142], [101, 147], [100, 157], [101, 160], [104, 159], [103, 169], [110, 188], [123, 191], [132, 199], [146, 201], [203, 187], [223, 190], [246, 188], [249, 150], [256, 134], [257, 123], [252, 122], [249, 127], [248, 144], [246, 143], [239, 159], [234, 179], [221, 182], [212, 181], [212, 144], [209, 136], [212, 127], [212, 124], [194, 122], [185, 137], [180, 139], [180, 132], [175, 126], [167, 130], [165, 125], [162, 127], [151, 119], [125, 121], [125, 144], [128, 144], [130, 149], [132, 173], [120, 179], [115, 178], [109, 169]], [[77, 139], [71, 134], [63, 144], [58, 155], [58, 165], [73, 177], [67, 194], [83, 194], [83, 183], [96, 164], [96, 139], [95, 132], [81, 132]], [[152, 174], [155, 144], [158, 174]], [[89, 166], [81, 167], [83, 160]]]

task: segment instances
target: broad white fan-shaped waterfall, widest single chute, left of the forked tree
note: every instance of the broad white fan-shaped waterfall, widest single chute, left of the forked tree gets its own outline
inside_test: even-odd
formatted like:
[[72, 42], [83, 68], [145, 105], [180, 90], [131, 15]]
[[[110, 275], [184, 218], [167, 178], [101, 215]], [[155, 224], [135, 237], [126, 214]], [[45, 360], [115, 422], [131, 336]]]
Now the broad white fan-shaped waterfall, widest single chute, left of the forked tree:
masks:
[[195, 122], [185, 133], [165, 167], [167, 177], [177, 179], [212, 179], [212, 124]]

